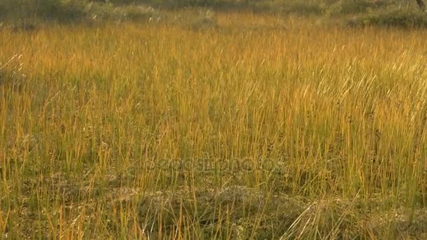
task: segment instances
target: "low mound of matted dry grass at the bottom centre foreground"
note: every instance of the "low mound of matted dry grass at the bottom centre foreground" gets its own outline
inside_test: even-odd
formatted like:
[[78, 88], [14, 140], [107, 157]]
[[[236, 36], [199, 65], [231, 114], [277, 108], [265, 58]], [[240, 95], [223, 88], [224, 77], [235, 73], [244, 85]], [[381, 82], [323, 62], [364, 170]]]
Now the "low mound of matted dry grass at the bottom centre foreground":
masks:
[[[298, 218], [303, 203], [289, 196], [230, 186], [193, 193], [156, 192], [140, 199], [139, 211], [147, 237], [159, 237], [159, 227], [162, 232], [170, 232], [181, 222], [183, 229], [179, 231], [201, 234], [184, 235], [190, 238], [273, 239], [282, 236]], [[195, 225], [184, 227], [184, 220]]]

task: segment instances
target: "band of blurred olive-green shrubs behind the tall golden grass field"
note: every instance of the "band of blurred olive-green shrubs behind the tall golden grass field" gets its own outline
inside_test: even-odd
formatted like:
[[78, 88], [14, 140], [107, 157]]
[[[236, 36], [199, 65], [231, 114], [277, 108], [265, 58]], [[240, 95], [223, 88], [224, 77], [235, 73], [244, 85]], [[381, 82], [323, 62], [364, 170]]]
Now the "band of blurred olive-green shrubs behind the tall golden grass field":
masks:
[[[0, 0], [0, 22], [6, 20], [150, 19], [162, 10], [209, 8], [213, 11], [350, 16], [354, 25], [426, 27], [426, 0]], [[420, 11], [421, 10], [421, 11]], [[155, 13], [156, 12], [156, 13]], [[343, 18], [344, 19], [344, 18]]]

